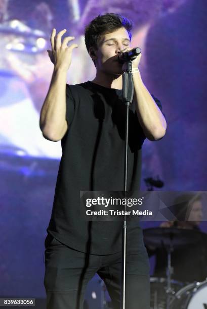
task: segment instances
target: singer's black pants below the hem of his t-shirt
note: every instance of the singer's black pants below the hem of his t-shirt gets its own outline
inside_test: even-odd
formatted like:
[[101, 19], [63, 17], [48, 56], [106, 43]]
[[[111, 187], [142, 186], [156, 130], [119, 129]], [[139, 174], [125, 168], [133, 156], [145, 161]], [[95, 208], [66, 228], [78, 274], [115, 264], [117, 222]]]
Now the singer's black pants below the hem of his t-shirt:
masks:
[[[119, 309], [121, 252], [87, 254], [48, 236], [44, 278], [47, 309], [82, 309], [86, 286], [96, 273], [106, 284], [113, 309]], [[149, 309], [149, 262], [145, 247], [128, 252], [126, 269], [126, 309]]]

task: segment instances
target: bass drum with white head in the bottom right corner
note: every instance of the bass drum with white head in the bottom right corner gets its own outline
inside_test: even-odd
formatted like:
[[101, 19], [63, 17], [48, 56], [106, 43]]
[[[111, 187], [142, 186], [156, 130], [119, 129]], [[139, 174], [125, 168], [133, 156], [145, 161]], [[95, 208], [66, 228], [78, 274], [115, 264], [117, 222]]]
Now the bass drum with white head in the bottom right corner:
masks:
[[207, 280], [194, 282], [180, 289], [173, 301], [172, 309], [206, 309]]

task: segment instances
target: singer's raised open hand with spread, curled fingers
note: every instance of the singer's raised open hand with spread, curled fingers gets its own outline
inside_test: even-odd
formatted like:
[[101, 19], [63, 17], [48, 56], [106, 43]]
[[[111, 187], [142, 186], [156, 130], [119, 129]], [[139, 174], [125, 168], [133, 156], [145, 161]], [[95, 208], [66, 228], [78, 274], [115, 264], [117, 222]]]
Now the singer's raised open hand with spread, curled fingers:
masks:
[[66, 36], [62, 41], [62, 36], [65, 32], [66, 29], [63, 29], [56, 35], [56, 29], [53, 29], [50, 39], [52, 50], [48, 49], [50, 60], [54, 66], [63, 71], [67, 71], [69, 69], [72, 58], [72, 50], [73, 48], [78, 47], [75, 43], [69, 46], [67, 45], [69, 41], [74, 40], [74, 36]]

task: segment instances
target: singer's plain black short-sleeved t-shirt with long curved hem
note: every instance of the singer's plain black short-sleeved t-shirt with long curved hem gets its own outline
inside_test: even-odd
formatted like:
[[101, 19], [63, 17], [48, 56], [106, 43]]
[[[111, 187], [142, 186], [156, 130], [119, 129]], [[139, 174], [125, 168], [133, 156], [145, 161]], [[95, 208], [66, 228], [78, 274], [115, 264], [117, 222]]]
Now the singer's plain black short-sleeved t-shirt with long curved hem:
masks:
[[[80, 220], [79, 191], [122, 191], [125, 158], [125, 104], [122, 91], [91, 81], [67, 85], [68, 130], [61, 140], [52, 216], [47, 229], [57, 240], [82, 252], [121, 251], [122, 222]], [[160, 101], [154, 97], [161, 110]], [[145, 135], [135, 105], [129, 113], [128, 190], [139, 190]], [[128, 251], [143, 247], [139, 224], [128, 224]]]

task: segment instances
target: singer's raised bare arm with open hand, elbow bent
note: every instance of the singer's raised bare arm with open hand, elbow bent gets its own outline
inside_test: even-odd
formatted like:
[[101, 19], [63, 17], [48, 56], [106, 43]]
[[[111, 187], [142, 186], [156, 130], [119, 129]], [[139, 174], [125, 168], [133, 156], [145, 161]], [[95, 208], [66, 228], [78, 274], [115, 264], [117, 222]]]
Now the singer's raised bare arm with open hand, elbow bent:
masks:
[[65, 37], [61, 44], [61, 37], [65, 29], [55, 38], [55, 29], [51, 35], [52, 50], [48, 50], [49, 57], [54, 64], [51, 84], [40, 112], [39, 126], [46, 139], [60, 140], [67, 131], [66, 122], [66, 77], [71, 63], [71, 54], [77, 44], [67, 46], [74, 37]]

